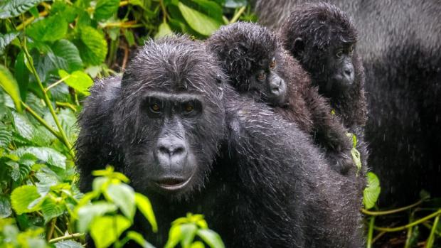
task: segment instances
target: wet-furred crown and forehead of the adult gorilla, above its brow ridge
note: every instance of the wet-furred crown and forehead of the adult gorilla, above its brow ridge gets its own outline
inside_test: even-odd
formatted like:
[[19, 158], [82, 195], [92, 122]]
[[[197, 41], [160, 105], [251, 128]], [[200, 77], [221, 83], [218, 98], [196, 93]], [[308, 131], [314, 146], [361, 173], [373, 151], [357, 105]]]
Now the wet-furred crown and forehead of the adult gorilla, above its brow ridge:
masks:
[[221, 70], [205, 46], [187, 36], [149, 40], [127, 66], [122, 77], [125, 92], [194, 92], [213, 97]]

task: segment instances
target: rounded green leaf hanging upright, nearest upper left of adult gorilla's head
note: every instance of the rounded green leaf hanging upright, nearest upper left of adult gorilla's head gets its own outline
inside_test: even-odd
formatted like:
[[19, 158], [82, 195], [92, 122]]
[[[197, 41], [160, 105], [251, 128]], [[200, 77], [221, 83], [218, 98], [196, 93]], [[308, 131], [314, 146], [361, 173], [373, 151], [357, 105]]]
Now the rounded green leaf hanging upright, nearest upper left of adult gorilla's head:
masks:
[[80, 50], [83, 62], [90, 65], [100, 65], [104, 62], [107, 55], [107, 41], [102, 33], [90, 26], [80, 28]]

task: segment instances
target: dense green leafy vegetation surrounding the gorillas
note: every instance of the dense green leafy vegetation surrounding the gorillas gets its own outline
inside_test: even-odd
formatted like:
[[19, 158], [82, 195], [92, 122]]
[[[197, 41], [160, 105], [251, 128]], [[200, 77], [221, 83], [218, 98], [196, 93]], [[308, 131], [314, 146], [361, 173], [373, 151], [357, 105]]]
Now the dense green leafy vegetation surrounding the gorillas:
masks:
[[[136, 210], [153, 230], [159, 225], [148, 198], [135, 193], [124, 175], [108, 167], [95, 172], [91, 192], [80, 193], [75, 185], [72, 147], [81, 100], [92, 79], [123, 70], [144, 40], [171, 32], [206, 38], [238, 20], [255, 21], [246, 0], [1, 1], [0, 247], [82, 247], [85, 233], [97, 247], [122, 247], [129, 240], [151, 247], [139, 233], [124, 232]], [[375, 207], [380, 193], [378, 178], [369, 173], [368, 180], [366, 209]], [[386, 232], [405, 230], [406, 247], [421, 240], [432, 247], [440, 239], [441, 203], [422, 199], [389, 212], [363, 210], [371, 215], [368, 245]], [[403, 211], [408, 225], [374, 225], [378, 215]], [[419, 227], [427, 227], [424, 235]], [[176, 245], [223, 247], [197, 214], [171, 223], [165, 246]]]

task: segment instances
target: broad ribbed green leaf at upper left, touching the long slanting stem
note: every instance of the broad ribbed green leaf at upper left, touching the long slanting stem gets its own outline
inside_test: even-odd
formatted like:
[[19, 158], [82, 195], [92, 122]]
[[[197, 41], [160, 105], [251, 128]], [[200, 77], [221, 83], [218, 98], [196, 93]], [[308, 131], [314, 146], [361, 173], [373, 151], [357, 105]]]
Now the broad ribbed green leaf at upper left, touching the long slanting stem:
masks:
[[63, 69], [68, 72], [83, 69], [83, 60], [80, 57], [80, 51], [68, 40], [60, 40], [53, 44], [53, 53], [48, 53], [48, 57], [57, 69]]

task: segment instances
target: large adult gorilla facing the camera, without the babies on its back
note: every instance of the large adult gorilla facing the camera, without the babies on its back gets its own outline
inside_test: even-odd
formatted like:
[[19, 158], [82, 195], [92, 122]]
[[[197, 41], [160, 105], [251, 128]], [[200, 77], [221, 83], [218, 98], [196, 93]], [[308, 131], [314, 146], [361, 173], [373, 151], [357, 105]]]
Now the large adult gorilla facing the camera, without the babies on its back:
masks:
[[96, 82], [76, 146], [82, 190], [107, 163], [126, 173], [152, 201], [156, 245], [172, 220], [200, 212], [227, 247], [362, 247], [355, 176], [331, 170], [297, 126], [222, 83], [217, 64], [179, 36], [148, 41], [122, 79]]

